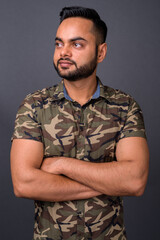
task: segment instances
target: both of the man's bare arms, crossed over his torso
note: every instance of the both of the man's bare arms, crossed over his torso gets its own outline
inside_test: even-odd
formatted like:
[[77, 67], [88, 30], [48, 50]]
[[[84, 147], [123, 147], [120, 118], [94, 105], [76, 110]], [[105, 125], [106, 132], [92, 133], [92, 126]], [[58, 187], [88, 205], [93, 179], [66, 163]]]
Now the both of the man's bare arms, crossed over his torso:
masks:
[[14, 139], [11, 172], [17, 197], [42, 201], [87, 199], [101, 194], [140, 196], [148, 176], [149, 153], [141, 137], [121, 139], [116, 162], [91, 163], [55, 157], [43, 161], [43, 144]]

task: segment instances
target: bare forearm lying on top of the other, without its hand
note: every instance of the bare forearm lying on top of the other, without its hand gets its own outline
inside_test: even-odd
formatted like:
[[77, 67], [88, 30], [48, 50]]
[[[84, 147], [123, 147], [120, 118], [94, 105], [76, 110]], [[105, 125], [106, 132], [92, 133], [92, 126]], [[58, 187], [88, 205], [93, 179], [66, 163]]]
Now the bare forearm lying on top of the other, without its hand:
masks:
[[111, 196], [141, 195], [140, 176], [134, 161], [91, 163], [73, 158], [60, 160], [60, 172], [75, 181]]

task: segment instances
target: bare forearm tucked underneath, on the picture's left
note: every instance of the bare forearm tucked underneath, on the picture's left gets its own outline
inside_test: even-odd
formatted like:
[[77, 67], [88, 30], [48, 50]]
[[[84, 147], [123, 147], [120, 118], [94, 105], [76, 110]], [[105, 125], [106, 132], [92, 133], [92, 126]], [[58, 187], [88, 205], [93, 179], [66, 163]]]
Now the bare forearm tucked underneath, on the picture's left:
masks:
[[41, 201], [68, 201], [87, 199], [99, 195], [97, 191], [71, 180], [39, 169], [26, 172], [15, 188], [18, 197]]

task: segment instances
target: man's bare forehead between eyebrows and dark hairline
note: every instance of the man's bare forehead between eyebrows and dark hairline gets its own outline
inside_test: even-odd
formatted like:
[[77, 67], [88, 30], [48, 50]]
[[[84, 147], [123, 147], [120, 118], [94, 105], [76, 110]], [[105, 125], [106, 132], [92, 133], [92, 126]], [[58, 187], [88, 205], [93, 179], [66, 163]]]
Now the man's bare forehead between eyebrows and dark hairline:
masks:
[[86, 40], [95, 40], [93, 22], [81, 17], [71, 17], [63, 20], [57, 29], [56, 37], [72, 39], [82, 37]]

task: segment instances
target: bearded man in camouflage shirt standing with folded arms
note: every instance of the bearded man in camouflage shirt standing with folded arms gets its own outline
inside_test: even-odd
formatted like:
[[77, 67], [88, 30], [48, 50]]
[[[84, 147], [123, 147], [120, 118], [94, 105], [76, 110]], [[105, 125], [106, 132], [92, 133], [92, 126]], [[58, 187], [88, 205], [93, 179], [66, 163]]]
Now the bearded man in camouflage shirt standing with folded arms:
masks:
[[34, 240], [125, 240], [122, 196], [148, 175], [143, 117], [96, 77], [107, 27], [93, 9], [64, 8], [55, 38], [59, 85], [28, 95], [13, 134], [17, 197], [35, 200]]

